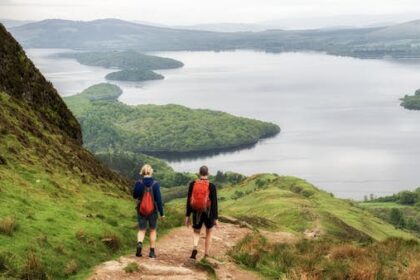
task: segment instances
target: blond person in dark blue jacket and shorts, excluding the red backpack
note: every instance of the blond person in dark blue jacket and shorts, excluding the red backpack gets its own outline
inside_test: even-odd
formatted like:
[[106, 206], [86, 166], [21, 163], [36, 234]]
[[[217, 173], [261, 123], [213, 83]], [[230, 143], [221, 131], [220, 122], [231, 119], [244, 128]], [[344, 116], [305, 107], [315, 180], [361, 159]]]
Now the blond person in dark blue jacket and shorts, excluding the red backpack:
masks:
[[144, 236], [146, 235], [147, 225], [149, 225], [149, 229], [150, 229], [149, 257], [156, 258], [155, 246], [156, 246], [156, 236], [157, 236], [156, 228], [157, 228], [158, 212], [162, 220], [165, 218], [165, 214], [163, 213], [162, 195], [160, 193], [159, 182], [153, 178], [153, 169], [150, 165], [145, 164], [141, 168], [140, 176], [141, 176], [141, 179], [135, 183], [134, 189], [133, 189], [133, 198], [137, 199], [137, 209], [141, 203], [146, 187], [151, 187], [151, 193], [154, 200], [154, 211], [148, 217], [143, 217], [142, 215], [140, 215], [139, 211], [137, 211], [137, 221], [139, 224], [139, 232], [137, 234], [136, 256], [137, 257], [142, 256], [143, 240], [144, 240]]

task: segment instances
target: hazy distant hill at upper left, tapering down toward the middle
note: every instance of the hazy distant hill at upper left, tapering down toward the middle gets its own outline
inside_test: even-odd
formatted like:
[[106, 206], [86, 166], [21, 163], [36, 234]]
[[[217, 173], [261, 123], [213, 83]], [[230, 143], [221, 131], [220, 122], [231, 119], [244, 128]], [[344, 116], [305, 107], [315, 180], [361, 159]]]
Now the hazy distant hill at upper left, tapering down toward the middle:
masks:
[[[186, 31], [137, 24], [118, 19], [94, 21], [44, 20], [10, 28], [10, 31], [26, 47], [53, 47], [74, 49], [129, 49], [175, 50], [209, 49], [215, 39], [224, 35], [213, 32]], [[215, 47], [215, 42], [211, 48]]]

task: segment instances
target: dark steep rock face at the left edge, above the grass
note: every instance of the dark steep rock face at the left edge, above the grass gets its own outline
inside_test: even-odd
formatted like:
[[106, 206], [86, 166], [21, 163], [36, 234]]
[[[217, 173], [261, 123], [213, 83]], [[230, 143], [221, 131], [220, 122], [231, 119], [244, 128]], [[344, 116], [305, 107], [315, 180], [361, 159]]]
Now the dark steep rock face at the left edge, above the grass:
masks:
[[80, 125], [52, 84], [0, 24], [0, 91], [26, 102], [40, 117], [82, 144]]

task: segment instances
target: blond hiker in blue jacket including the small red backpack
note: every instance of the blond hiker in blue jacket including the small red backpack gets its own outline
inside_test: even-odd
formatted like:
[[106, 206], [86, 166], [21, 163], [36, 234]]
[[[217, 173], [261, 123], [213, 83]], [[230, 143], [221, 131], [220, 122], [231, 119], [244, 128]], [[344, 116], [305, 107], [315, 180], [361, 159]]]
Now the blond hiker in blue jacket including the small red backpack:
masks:
[[140, 180], [134, 185], [133, 197], [137, 199], [137, 221], [139, 232], [137, 234], [136, 256], [142, 256], [143, 240], [146, 235], [147, 225], [150, 230], [150, 258], [156, 258], [156, 227], [158, 212], [161, 219], [165, 218], [163, 213], [162, 196], [160, 194], [159, 182], [153, 179], [153, 169], [145, 164], [140, 170]]

